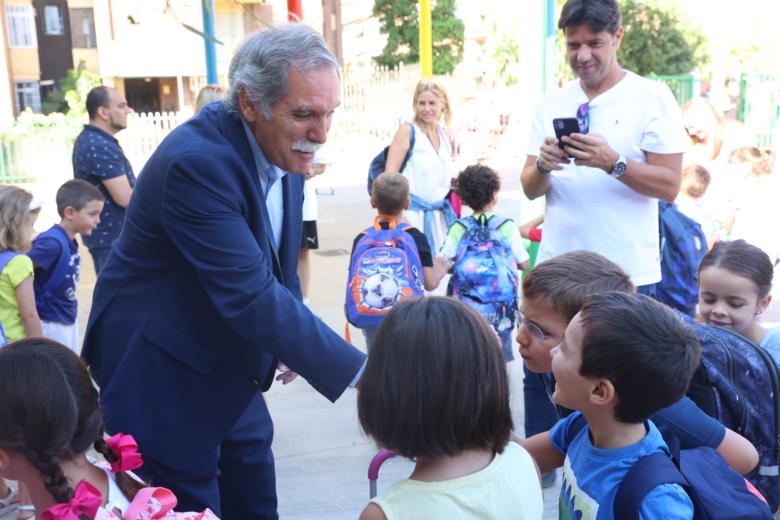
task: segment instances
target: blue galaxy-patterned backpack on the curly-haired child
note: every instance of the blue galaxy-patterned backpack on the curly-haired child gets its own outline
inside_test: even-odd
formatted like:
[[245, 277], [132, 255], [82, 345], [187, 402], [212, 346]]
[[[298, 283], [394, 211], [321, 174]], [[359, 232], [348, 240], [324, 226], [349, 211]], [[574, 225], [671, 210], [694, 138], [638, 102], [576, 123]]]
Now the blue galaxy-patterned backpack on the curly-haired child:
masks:
[[456, 221], [465, 232], [458, 242], [450, 290], [458, 298], [481, 303], [517, 300], [517, 261], [506, 237], [499, 232], [509, 219], [496, 215]]

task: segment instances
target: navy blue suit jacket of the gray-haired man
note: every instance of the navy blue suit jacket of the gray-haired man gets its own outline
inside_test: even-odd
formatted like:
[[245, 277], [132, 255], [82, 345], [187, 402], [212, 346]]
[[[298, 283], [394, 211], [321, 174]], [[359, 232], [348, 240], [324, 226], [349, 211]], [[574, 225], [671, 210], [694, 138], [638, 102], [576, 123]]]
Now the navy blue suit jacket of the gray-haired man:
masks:
[[213, 453], [276, 360], [336, 400], [365, 358], [300, 301], [304, 179], [282, 182], [277, 254], [241, 122], [210, 105], [149, 159], [98, 277], [82, 356], [108, 428], [169, 467]]

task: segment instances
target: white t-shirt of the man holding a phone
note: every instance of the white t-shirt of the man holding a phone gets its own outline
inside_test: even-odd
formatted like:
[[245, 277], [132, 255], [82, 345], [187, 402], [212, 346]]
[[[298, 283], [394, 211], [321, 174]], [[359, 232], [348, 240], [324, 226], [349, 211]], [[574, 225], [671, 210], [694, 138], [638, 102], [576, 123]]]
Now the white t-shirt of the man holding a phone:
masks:
[[[574, 117], [588, 97], [575, 79], [536, 108], [528, 155], [538, 156], [552, 120]], [[589, 133], [602, 135], [626, 159], [646, 163], [644, 152], [685, 151], [687, 137], [677, 101], [663, 83], [626, 71], [589, 103]], [[584, 249], [620, 265], [635, 285], [661, 280], [657, 199], [641, 195], [603, 170], [567, 165], [553, 171], [537, 262]]]

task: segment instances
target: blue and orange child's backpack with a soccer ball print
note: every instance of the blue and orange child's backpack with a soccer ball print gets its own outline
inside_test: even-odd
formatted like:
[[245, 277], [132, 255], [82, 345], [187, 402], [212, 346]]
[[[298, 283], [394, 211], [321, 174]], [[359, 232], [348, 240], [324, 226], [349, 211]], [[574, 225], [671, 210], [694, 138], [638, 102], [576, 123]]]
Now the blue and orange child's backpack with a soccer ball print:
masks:
[[379, 217], [363, 231], [349, 262], [347, 320], [355, 327], [379, 326], [390, 309], [406, 298], [423, 295], [423, 268], [409, 224]]

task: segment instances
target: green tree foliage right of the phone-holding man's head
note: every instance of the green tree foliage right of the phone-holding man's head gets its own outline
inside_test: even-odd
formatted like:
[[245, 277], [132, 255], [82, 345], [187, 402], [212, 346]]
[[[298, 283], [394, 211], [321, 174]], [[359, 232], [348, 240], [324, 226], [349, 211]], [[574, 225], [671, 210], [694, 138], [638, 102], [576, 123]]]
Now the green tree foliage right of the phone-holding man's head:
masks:
[[709, 61], [704, 36], [672, 7], [624, 0], [621, 10], [618, 61], [624, 68], [641, 76], [687, 74]]

